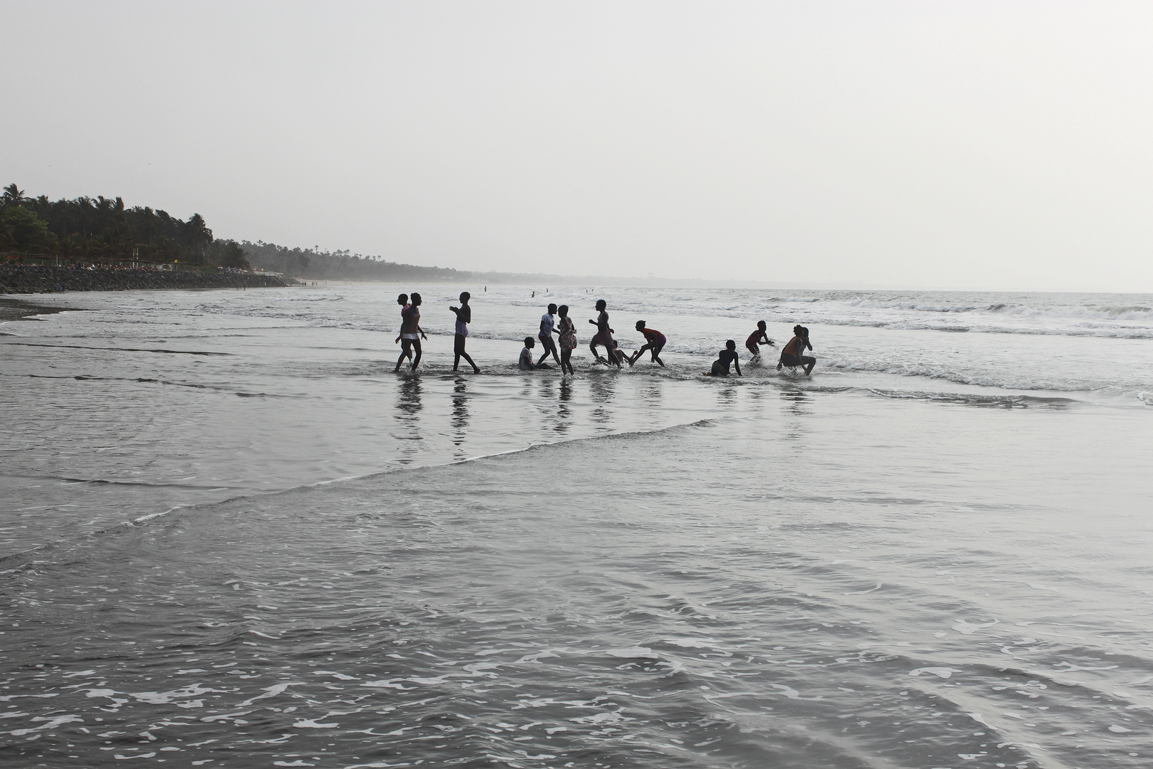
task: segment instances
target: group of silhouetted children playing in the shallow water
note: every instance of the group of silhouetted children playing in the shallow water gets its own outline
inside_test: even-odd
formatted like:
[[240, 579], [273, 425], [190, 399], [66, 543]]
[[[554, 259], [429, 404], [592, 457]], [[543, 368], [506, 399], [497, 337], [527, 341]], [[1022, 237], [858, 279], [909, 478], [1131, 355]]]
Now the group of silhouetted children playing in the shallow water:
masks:
[[[466, 291], [460, 294], [460, 307], [449, 308], [457, 315], [455, 334], [452, 348], [452, 370], [455, 371], [459, 368], [460, 359], [464, 357], [468, 361], [468, 364], [473, 367], [473, 372], [480, 374], [480, 367], [477, 367], [472, 356], [465, 352], [465, 340], [468, 337], [468, 324], [473, 321], [473, 310], [468, 307], [469, 299], [470, 295]], [[400, 371], [400, 365], [404, 363], [406, 357], [412, 361], [412, 369], [415, 371], [417, 364], [421, 362], [421, 339], [428, 339], [420, 325], [421, 295], [415, 292], [413, 292], [412, 296], [408, 294], [400, 294], [397, 297], [397, 303], [400, 304], [401, 308], [400, 336], [397, 337], [397, 341], [400, 342], [400, 357], [397, 359], [397, 368], [394, 371]], [[626, 355], [625, 352], [617, 346], [616, 340], [612, 338], [612, 334], [616, 332], [609, 326], [609, 312], [606, 308], [608, 304], [603, 299], [597, 300], [597, 317], [595, 321], [591, 318], [589, 319], [589, 323], [596, 326], [596, 333], [593, 336], [593, 339], [588, 345], [596, 362], [604, 363], [605, 365], [616, 365], [619, 369], [626, 361], [628, 365], [633, 365], [638, 360], [640, 360], [641, 355], [649, 353], [653, 362], [663, 367], [664, 361], [661, 360], [661, 350], [668, 342], [668, 338], [665, 338], [665, 336], [660, 331], [647, 327], [643, 321], [638, 321], [636, 331], [645, 337], [645, 345], [631, 356]], [[559, 315], [559, 318], [553, 317], [557, 315]], [[556, 341], [553, 341], [552, 334], [557, 334]], [[541, 355], [538, 361], [534, 361], [533, 348], [536, 346], [537, 339], [541, 341], [541, 347], [544, 349], [544, 353]], [[768, 337], [764, 321], [760, 321], [756, 324], [756, 330], [748, 336], [748, 339], [745, 340], [745, 348], [748, 349], [754, 357], [760, 356], [761, 345], [776, 345], [776, 342]], [[604, 347], [604, 356], [601, 356], [597, 352], [597, 347]], [[816, 359], [805, 355], [804, 352], [806, 348], [813, 349], [813, 345], [808, 341], [808, 329], [801, 325], [793, 326], [793, 338], [781, 350], [777, 370], [779, 371], [784, 367], [793, 369], [804, 367], [806, 375], [812, 374], [813, 367], [816, 364]], [[536, 339], [533, 337], [525, 337], [525, 347], [520, 350], [518, 365], [522, 371], [549, 369], [552, 367], [545, 363], [545, 361], [549, 355], [551, 355], [563, 372], [575, 374], [572, 364], [572, 353], [574, 349], [576, 349], [576, 326], [572, 318], [568, 317], [568, 306], [562, 304], [560, 307], [557, 307], [556, 304], [549, 304], [548, 311], [541, 316], [541, 329], [536, 334]], [[732, 339], [725, 342], [725, 348], [721, 350], [717, 360], [713, 362], [713, 369], [708, 371], [708, 375], [729, 376], [730, 367], [736, 368], [737, 376], [741, 376], [740, 361], [737, 354], [737, 342]]]

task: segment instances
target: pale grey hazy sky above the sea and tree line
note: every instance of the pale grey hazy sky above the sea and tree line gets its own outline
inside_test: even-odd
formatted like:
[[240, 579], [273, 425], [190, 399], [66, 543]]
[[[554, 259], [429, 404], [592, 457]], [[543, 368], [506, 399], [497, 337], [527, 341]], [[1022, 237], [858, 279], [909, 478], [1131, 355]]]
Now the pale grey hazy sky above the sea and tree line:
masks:
[[1151, 2], [0, 0], [0, 183], [459, 269], [1153, 291]]

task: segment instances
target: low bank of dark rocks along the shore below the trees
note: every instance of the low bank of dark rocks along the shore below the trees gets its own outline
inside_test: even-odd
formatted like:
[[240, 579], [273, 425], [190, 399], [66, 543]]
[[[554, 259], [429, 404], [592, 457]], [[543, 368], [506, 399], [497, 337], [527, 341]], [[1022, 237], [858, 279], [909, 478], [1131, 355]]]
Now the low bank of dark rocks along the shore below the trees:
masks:
[[131, 291], [140, 288], [282, 288], [287, 285], [288, 281], [281, 278], [259, 273], [0, 266], [0, 294]]

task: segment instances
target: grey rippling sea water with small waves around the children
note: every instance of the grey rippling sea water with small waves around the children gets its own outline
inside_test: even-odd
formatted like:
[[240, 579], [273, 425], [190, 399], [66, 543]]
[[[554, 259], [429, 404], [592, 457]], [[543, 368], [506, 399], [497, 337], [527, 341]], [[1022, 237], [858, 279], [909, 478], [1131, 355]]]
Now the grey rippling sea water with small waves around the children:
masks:
[[0, 764], [1153, 762], [1153, 296], [467, 289], [0, 326]]

